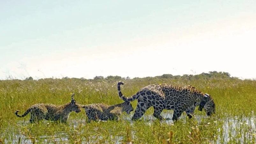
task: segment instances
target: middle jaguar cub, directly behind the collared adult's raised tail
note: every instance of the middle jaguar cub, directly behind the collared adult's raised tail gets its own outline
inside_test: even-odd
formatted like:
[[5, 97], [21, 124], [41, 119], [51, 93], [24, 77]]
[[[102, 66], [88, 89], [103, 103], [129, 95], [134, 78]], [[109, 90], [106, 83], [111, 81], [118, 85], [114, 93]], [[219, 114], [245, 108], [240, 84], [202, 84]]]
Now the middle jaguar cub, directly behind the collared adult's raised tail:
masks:
[[86, 115], [88, 117], [87, 122], [91, 120], [117, 120], [118, 116], [122, 112], [130, 114], [133, 111], [132, 104], [130, 102], [123, 102], [121, 104], [107, 105], [107, 104], [89, 104], [80, 105], [80, 107], [85, 109]]

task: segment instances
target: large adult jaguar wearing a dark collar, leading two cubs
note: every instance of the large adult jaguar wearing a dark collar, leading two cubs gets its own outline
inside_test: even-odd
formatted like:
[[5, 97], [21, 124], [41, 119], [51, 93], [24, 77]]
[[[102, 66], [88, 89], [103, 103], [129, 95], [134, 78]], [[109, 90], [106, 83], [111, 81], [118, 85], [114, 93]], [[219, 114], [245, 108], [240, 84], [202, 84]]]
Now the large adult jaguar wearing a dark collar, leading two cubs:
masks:
[[192, 118], [195, 107], [198, 105], [200, 105], [199, 110], [202, 111], [202, 108], [204, 108], [208, 116], [215, 113], [213, 98], [193, 86], [180, 87], [171, 84], [152, 84], [142, 88], [131, 97], [125, 97], [120, 88], [120, 85], [123, 84], [122, 82], [117, 84], [119, 97], [127, 102], [138, 99], [132, 120], [140, 119], [151, 106], [154, 107], [153, 116], [160, 120], [163, 119], [160, 114], [164, 109], [174, 110], [172, 120], [175, 121], [184, 111], [189, 118]]

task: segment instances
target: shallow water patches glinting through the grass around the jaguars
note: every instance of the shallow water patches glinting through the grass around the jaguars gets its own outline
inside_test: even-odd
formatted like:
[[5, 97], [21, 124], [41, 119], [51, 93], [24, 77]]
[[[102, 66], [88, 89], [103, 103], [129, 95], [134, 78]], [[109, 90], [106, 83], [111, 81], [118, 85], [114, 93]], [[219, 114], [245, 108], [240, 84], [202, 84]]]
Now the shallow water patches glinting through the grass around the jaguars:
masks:
[[[161, 114], [164, 118], [172, 118], [172, 112], [162, 112]], [[121, 120], [130, 121], [130, 124], [133, 125], [133, 122], [130, 120], [132, 117], [131, 115], [123, 115]], [[153, 125], [154, 121], [156, 119], [150, 115], [144, 115], [143, 121], [148, 125]], [[223, 118], [216, 121], [204, 123], [204, 119], [210, 119], [206, 116], [201, 115], [195, 115], [195, 119], [198, 122], [198, 124], [204, 124], [204, 125], [210, 125], [210, 123], [216, 123], [218, 125], [218, 133], [215, 135], [216, 141], [212, 141], [212, 143], [228, 143], [230, 140], [232, 142], [236, 143], [245, 143], [246, 141], [250, 141], [252, 139], [256, 139], [256, 116], [253, 115], [252, 117], [230, 117], [230, 118]], [[182, 115], [180, 117], [180, 120], [182, 120], [184, 123], [186, 122], [186, 115]], [[46, 125], [49, 124], [49, 122], [44, 121]], [[104, 123], [104, 121], [100, 121], [99, 123]], [[160, 122], [161, 124], [167, 124], [167, 125], [175, 125], [172, 120], [163, 120]], [[29, 125], [28, 122], [19, 122], [18, 125], [24, 126]], [[77, 128], [79, 125], [87, 125], [86, 120], [72, 120], [69, 121], [69, 127]], [[90, 125], [90, 124], [88, 124]], [[97, 130], [97, 127], [95, 127], [95, 130]], [[83, 130], [82, 130], [83, 131]], [[108, 131], [111, 131], [109, 129]], [[249, 133], [250, 132], [250, 133]], [[79, 132], [77, 132], [79, 134]], [[80, 132], [82, 133], [82, 132]], [[136, 133], [132, 131], [132, 137], [134, 138], [136, 136]], [[123, 136], [120, 135], [111, 135], [111, 139], [114, 141], [114, 143], [122, 143]], [[95, 143], [96, 141], [100, 140], [102, 137], [97, 135], [91, 135], [90, 137], [87, 137], [87, 139], [84, 139], [81, 141], [81, 143], [87, 144], [87, 143]], [[40, 139], [40, 141], [38, 140]], [[42, 135], [35, 142], [40, 143], [69, 143], [70, 140], [70, 134], [65, 132], [58, 132], [55, 135]], [[28, 138], [27, 136], [23, 135], [22, 133], [16, 134], [16, 135], [10, 135], [9, 139], [5, 139], [5, 143], [33, 143], [33, 140]], [[9, 142], [7, 142], [9, 141]]]

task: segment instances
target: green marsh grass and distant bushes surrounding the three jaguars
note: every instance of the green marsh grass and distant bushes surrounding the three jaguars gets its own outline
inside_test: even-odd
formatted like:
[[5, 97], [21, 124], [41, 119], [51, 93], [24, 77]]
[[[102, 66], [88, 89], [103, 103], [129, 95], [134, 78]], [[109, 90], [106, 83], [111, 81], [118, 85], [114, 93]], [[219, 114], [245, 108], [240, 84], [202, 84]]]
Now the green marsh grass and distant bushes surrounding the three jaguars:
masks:
[[[130, 96], [153, 83], [193, 85], [213, 96], [216, 114], [207, 117], [195, 111], [193, 119], [183, 114], [172, 120], [159, 121], [152, 117], [150, 108], [142, 120], [130, 121], [122, 114], [120, 121], [91, 122], [86, 124], [84, 110], [72, 112], [68, 124], [43, 121], [30, 124], [30, 115], [18, 118], [14, 112], [26, 111], [36, 103], [65, 104], [70, 93], [76, 93], [80, 104], [117, 104], [116, 84], [123, 81], [124, 95]], [[147, 78], [121, 78], [119, 76], [84, 78], [3, 80], [0, 81], [0, 143], [51, 142], [51, 143], [255, 143], [256, 142], [256, 81], [240, 80], [228, 73], [210, 72], [196, 76], [163, 75]], [[132, 102], [136, 108], [137, 101]], [[172, 118], [173, 111], [165, 110], [162, 116]]]

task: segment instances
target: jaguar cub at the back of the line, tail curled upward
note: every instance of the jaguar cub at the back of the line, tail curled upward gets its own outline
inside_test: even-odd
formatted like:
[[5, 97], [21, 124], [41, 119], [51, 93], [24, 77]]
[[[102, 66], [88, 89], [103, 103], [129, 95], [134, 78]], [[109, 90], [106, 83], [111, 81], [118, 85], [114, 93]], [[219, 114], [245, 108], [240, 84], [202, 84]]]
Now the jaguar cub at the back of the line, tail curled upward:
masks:
[[43, 119], [66, 123], [70, 112], [81, 112], [79, 105], [76, 104], [74, 95], [74, 93], [71, 95], [71, 102], [68, 104], [60, 106], [54, 104], [34, 104], [28, 108], [23, 115], [18, 115], [19, 110], [15, 112], [15, 115], [21, 118], [25, 117], [30, 112], [31, 116], [29, 121], [31, 123], [39, 122]]

